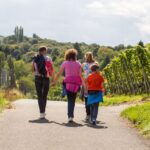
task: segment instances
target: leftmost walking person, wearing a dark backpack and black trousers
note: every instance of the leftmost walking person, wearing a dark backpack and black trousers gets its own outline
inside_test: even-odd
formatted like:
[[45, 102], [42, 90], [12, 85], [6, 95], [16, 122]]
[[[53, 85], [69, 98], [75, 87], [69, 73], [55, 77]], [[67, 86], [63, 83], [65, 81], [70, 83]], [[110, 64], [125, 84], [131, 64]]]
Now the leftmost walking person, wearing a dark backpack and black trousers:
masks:
[[40, 47], [39, 54], [34, 57], [32, 70], [35, 74], [35, 87], [38, 97], [40, 119], [46, 116], [46, 102], [50, 85], [50, 77], [54, 80], [54, 69], [51, 58], [47, 55], [47, 48]]

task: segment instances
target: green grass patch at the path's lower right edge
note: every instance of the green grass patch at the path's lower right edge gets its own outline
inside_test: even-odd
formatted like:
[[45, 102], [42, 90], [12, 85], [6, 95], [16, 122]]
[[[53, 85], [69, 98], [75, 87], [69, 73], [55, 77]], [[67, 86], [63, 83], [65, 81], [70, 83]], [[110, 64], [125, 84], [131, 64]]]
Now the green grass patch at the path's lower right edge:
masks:
[[130, 107], [121, 116], [130, 120], [144, 136], [150, 138], [150, 102]]

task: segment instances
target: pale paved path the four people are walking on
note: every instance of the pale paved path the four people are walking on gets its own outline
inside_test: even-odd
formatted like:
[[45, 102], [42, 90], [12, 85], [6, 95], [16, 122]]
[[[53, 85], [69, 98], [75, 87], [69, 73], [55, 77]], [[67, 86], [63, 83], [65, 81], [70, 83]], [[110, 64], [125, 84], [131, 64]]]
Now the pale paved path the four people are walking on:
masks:
[[83, 122], [83, 105], [76, 105], [75, 121], [66, 124], [66, 103], [48, 102], [47, 121], [39, 122], [37, 102], [20, 100], [0, 114], [0, 150], [150, 150], [135, 129], [119, 117], [126, 106], [100, 109], [99, 127]]

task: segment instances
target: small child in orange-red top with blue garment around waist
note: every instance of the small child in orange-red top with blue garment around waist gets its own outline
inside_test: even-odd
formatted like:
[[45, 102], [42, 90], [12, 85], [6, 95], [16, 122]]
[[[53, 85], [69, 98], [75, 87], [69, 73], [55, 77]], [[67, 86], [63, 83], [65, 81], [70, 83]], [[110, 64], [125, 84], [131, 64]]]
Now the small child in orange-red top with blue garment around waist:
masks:
[[91, 66], [92, 73], [87, 78], [88, 102], [91, 109], [91, 123], [96, 125], [99, 103], [103, 102], [104, 78], [99, 73], [99, 65], [94, 63]]

